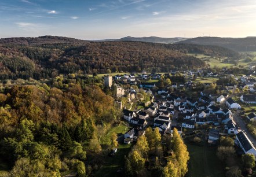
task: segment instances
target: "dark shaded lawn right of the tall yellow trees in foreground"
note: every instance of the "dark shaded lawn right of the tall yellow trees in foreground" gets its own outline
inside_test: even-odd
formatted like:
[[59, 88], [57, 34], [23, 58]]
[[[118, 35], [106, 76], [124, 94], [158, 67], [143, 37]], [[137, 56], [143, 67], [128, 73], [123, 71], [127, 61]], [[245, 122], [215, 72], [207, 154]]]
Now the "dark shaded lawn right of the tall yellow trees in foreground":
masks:
[[216, 148], [186, 143], [189, 151], [189, 167], [186, 177], [224, 177], [225, 165], [217, 158]]

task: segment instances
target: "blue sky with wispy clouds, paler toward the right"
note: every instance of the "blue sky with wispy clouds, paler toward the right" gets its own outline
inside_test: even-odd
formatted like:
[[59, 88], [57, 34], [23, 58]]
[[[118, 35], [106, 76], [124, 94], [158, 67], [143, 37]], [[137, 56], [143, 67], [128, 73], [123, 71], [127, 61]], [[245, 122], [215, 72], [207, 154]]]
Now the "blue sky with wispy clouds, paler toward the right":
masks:
[[0, 0], [0, 38], [256, 36], [255, 0]]

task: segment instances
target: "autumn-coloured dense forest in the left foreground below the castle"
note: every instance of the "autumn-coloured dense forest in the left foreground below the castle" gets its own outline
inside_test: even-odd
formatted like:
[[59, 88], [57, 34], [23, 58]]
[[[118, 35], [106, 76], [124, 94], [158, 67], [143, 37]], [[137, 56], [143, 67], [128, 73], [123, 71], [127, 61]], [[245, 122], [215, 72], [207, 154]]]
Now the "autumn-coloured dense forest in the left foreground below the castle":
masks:
[[[90, 175], [111, 139], [104, 131], [118, 121], [114, 99], [98, 86], [68, 89], [13, 86], [0, 94], [0, 157], [12, 166], [4, 176]], [[114, 135], [116, 136], [116, 135]], [[104, 145], [104, 142], [109, 142]]]

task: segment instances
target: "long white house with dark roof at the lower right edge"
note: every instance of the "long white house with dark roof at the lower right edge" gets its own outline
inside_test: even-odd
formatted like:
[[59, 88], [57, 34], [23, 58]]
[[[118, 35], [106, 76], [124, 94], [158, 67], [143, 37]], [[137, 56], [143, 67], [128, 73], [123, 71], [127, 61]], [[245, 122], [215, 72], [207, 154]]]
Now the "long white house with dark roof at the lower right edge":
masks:
[[239, 146], [243, 149], [244, 153], [251, 153], [256, 156], [256, 149], [253, 143], [251, 143], [250, 139], [247, 137], [246, 134], [244, 134], [243, 131], [240, 131], [238, 134], [236, 134], [236, 139], [239, 142]]

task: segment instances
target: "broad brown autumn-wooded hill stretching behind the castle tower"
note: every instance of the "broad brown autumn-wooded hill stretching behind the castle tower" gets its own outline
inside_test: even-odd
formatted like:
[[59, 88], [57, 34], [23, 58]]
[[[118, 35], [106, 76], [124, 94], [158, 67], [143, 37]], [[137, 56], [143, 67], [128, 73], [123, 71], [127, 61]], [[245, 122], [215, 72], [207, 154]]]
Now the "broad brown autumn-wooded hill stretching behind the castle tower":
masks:
[[87, 42], [57, 36], [8, 38], [0, 43], [0, 79], [52, 78], [75, 72], [106, 73], [202, 68], [204, 61], [186, 53], [237, 58], [217, 46], [164, 45], [147, 42]]

